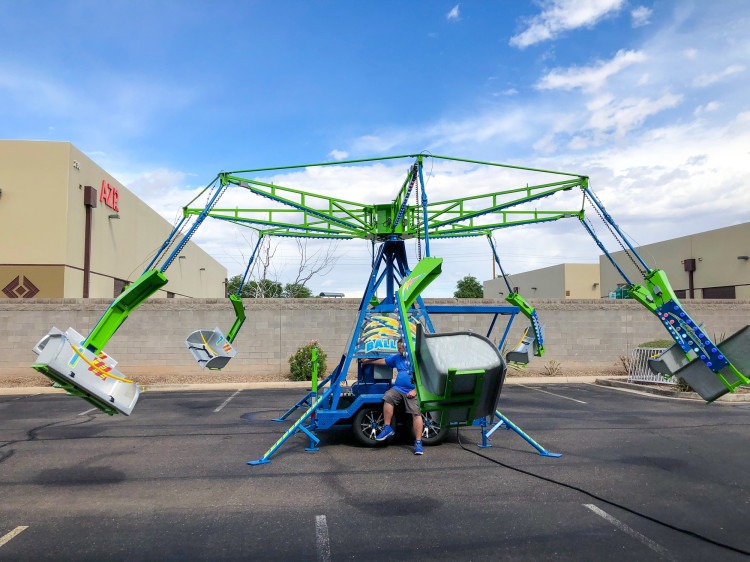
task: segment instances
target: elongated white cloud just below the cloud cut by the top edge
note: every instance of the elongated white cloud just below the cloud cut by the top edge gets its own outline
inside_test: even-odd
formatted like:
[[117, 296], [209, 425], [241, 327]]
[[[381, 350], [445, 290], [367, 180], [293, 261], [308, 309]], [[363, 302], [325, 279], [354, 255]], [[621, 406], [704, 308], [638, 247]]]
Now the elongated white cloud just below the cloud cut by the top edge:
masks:
[[591, 66], [555, 68], [543, 76], [536, 84], [539, 90], [573, 90], [596, 91], [603, 88], [607, 79], [630, 65], [646, 60], [641, 51], [617, 51], [609, 61], [599, 61]]

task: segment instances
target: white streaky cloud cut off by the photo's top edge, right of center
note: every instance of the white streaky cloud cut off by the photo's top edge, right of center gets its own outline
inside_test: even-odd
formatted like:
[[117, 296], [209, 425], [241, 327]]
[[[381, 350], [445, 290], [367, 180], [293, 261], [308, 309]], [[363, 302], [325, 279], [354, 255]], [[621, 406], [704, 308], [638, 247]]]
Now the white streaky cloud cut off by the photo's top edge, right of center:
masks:
[[568, 30], [593, 27], [624, 5], [625, 0], [547, 0], [542, 13], [528, 20], [527, 29], [511, 37], [510, 44], [523, 49]]

